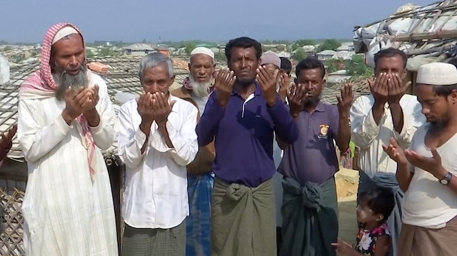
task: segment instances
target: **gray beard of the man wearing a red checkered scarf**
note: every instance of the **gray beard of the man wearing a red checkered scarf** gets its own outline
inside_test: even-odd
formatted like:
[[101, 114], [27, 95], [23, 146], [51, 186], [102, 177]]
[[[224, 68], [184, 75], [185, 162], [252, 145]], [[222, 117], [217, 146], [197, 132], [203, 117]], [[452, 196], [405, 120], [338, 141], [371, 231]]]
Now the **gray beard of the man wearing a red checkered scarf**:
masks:
[[87, 78], [86, 65], [81, 65], [80, 71], [76, 76], [71, 76], [63, 68], [56, 67], [52, 78], [57, 85], [56, 98], [62, 101], [65, 97], [67, 88], [71, 88], [72, 91], [76, 91], [81, 87], [87, 88], [89, 86], [89, 78]]

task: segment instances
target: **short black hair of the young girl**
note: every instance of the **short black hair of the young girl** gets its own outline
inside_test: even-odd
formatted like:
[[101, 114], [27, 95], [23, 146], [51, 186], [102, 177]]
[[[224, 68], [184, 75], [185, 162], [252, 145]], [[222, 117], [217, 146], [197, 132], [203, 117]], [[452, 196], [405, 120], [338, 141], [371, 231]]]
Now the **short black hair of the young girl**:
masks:
[[360, 193], [360, 203], [364, 203], [374, 214], [382, 214], [383, 222], [391, 215], [395, 207], [395, 195], [389, 188], [373, 185], [373, 188]]

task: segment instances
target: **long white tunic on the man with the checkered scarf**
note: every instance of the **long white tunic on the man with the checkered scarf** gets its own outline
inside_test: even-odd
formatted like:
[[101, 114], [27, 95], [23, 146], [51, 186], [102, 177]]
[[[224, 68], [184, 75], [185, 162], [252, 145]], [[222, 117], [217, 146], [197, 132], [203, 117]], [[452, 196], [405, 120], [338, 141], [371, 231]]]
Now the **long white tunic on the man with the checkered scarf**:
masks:
[[19, 101], [18, 139], [29, 166], [22, 204], [26, 255], [118, 255], [111, 185], [100, 150], [114, 143], [116, 117], [106, 83], [93, 76], [101, 116], [100, 125], [91, 128], [97, 146], [94, 184], [79, 123], [68, 126], [61, 116], [65, 102]]

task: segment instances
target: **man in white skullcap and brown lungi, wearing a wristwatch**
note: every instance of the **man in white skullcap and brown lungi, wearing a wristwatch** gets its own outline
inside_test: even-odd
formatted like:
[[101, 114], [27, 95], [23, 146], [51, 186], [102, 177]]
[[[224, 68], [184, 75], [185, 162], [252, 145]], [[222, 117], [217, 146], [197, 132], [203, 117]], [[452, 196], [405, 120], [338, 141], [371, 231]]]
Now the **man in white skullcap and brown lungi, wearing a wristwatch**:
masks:
[[396, 178], [406, 191], [398, 255], [456, 255], [456, 67], [421, 66], [415, 91], [427, 123], [416, 130], [408, 150], [395, 138], [383, 145], [396, 161]]

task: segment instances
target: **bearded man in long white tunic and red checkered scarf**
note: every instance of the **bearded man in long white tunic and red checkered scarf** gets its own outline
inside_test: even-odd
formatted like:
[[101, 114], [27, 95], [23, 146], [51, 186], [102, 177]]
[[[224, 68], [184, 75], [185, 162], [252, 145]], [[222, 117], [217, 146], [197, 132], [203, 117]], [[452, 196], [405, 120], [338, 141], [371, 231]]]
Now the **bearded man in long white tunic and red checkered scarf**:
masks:
[[81, 32], [71, 24], [52, 26], [41, 69], [19, 91], [17, 133], [29, 168], [26, 255], [118, 255], [101, 153], [114, 143], [115, 121], [106, 83], [86, 69]]

